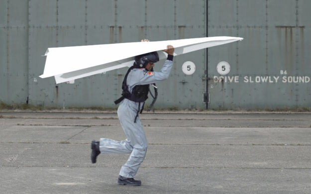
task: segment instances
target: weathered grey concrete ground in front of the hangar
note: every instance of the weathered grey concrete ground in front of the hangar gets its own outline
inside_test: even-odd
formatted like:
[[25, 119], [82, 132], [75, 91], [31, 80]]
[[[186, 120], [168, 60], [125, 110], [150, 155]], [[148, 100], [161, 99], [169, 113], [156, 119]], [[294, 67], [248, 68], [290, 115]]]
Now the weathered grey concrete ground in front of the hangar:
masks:
[[116, 184], [128, 155], [116, 113], [0, 112], [0, 194], [310, 194], [311, 114], [143, 113], [141, 187]]

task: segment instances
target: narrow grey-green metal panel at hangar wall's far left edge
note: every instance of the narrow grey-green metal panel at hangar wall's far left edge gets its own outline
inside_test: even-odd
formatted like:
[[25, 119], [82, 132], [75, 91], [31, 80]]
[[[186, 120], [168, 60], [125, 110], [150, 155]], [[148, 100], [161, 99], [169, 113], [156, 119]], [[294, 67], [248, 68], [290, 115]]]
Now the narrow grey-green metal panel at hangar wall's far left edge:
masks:
[[28, 96], [28, 1], [1, 1], [0, 100], [26, 103]]

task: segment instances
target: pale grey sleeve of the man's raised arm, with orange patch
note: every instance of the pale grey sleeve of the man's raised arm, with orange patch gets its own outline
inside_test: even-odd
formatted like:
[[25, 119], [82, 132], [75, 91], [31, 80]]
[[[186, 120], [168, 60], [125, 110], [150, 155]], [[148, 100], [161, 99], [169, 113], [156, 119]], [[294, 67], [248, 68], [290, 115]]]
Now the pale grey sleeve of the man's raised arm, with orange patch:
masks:
[[170, 75], [172, 66], [173, 61], [166, 60], [162, 69], [159, 72], [148, 72], [146, 70], [140, 71], [138, 85], [153, 84], [163, 80], [167, 80]]

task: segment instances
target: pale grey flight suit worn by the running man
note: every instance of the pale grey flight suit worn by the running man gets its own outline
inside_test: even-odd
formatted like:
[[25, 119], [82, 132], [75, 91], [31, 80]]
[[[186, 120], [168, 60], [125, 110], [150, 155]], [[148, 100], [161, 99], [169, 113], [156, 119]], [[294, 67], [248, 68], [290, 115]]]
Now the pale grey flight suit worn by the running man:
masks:
[[[126, 80], [128, 91], [131, 93], [136, 85], [147, 85], [168, 79], [172, 65], [173, 61], [166, 60], [160, 72], [147, 72], [145, 69], [131, 70]], [[140, 107], [142, 107], [142, 103]], [[115, 141], [106, 138], [100, 139], [101, 154], [130, 154], [119, 174], [126, 178], [134, 178], [139, 165], [145, 158], [148, 147], [139, 116], [137, 117], [136, 123], [134, 123], [138, 104], [139, 102], [124, 98], [117, 110], [120, 124], [127, 139], [124, 141]]]

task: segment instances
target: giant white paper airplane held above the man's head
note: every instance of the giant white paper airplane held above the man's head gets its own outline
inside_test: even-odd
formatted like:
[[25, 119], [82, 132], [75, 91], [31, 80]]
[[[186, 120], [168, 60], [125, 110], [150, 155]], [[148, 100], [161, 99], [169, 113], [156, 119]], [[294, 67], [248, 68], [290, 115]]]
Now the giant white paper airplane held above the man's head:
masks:
[[40, 78], [54, 76], [56, 84], [92, 76], [99, 73], [130, 67], [134, 57], [144, 53], [159, 51], [159, 58], [165, 59], [162, 51], [167, 45], [175, 48], [174, 56], [192, 51], [227, 44], [239, 37], [216, 36], [154, 42], [130, 42], [90, 46], [48, 48], [44, 72]]

